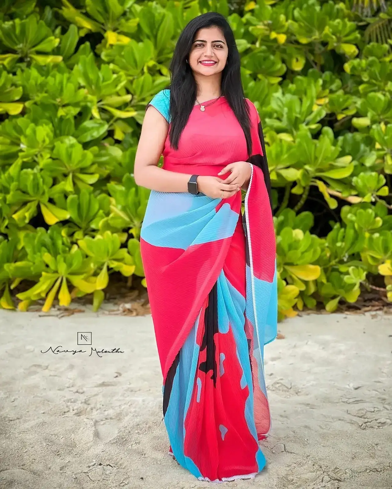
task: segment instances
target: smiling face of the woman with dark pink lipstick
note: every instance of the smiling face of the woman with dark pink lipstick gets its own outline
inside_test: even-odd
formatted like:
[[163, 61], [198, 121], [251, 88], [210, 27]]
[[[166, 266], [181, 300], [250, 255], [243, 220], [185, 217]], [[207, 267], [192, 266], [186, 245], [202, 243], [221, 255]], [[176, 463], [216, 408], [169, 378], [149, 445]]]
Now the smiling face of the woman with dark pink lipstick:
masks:
[[226, 40], [218, 27], [200, 29], [196, 32], [188, 63], [195, 74], [214, 75], [225, 67], [228, 52]]

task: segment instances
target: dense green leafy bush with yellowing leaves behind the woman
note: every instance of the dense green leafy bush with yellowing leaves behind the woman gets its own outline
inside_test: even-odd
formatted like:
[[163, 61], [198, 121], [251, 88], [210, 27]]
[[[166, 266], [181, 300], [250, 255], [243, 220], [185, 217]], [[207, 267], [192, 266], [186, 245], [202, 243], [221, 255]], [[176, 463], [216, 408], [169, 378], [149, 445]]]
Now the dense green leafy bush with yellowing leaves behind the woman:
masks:
[[[392, 7], [359, 0], [41, 0], [0, 7], [0, 307], [146, 287], [133, 162], [176, 39], [226, 15], [261, 116], [279, 318], [361, 290], [392, 302]], [[25, 284], [22, 292], [13, 290]]]

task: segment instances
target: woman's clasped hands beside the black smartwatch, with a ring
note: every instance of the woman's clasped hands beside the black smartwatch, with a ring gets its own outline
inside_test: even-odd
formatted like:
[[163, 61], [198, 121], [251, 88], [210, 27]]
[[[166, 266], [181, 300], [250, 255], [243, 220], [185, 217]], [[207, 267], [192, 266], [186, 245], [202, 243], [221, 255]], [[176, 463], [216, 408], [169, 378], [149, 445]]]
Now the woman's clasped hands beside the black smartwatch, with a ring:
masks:
[[235, 161], [226, 165], [218, 175], [231, 172], [226, 179], [219, 177], [198, 176], [197, 188], [212, 199], [227, 199], [247, 186], [251, 175], [251, 166], [246, 161]]

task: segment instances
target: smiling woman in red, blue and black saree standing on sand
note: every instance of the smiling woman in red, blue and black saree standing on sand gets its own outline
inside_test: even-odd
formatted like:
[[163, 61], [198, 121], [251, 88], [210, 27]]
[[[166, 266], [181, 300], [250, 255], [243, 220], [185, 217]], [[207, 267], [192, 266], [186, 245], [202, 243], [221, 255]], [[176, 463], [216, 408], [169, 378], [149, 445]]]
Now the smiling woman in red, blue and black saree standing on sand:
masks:
[[147, 106], [134, 167], [152, 189], [140, 245], [169, 453], [199, 480], [249, 479], [265, 465], [263, 346], [277, 333], [260, 117], [220, 14], [188, 23], [170, 69], [170, 88]]

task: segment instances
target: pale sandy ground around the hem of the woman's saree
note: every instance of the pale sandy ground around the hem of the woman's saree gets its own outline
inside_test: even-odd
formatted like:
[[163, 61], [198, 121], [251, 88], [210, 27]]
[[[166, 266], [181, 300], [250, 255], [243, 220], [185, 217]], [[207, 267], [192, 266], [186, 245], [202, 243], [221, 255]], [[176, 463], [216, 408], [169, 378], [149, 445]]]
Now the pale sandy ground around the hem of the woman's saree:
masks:
[[[392, 316], [305, 315], [280, 331], [265, 354], [268, 465], [216, 485], [167, 454], [151, 316], [0, 311], [0, 488], [391, 489]], [[59, 345], [86, 353], [41, 353]]]

